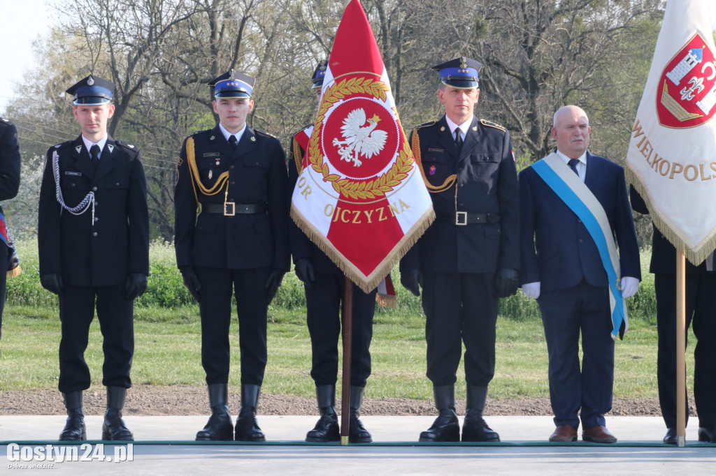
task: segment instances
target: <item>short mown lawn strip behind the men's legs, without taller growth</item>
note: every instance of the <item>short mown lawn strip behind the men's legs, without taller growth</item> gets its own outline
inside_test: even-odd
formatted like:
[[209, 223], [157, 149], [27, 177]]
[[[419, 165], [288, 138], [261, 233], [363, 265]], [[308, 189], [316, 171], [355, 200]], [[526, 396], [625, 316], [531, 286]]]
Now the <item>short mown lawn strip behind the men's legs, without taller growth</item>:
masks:
[[[151, 312], [152, 309], [141, 309]], [[200, 364], [200, 324], [196, 307], [154, 309], [158, 319], [135, 322], [132, 381], [147, 385], [204, 385]], [[173, 314], [174, 318], [170, 318]], [[269, 364], [263, 391], [301, 397], [314, 395], [309, 376], [311, 341], [302, 308], [271, 309]], [[430, 400], [425, 377], [424, 320], [420, 314], [397, 309], [395, 318], [378, 316], [371, 347], [371, 397], [410, 397]], [[60, 325], [52, 308], [6, 309], [3, 322], [0, 382], [2, 390], [57, 388], [57, 349]], [[693, 375], [693, 344], [687, 349], [688, 379]], [[92, 385], [100, 385], [102, 336], [97, 321], [90, 329], [86, 359]], [[238, 324], [231, 326], [231, 385], [239, 384]], [[632, 319], [624, 341], [616, 342], [614, 397], [657, 397], [657, 333], [650, 322]], [[458, 395], [464, 393], [463, 367], [458, 370]], [[541, 320], [498, 319], [496, 372], [490, 397], [528, 399], [548, 397], [547, 349]]]

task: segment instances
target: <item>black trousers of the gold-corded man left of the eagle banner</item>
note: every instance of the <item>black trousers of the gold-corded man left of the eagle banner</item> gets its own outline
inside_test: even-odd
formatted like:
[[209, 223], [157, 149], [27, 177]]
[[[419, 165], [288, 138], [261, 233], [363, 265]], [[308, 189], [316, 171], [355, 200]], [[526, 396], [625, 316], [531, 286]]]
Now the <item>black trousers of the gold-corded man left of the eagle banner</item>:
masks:
[[201, 283], [201, 365], [207, 385], [228, 383], [231, 294], [236, 293], [241, 384], [261, 385], [266, 370], [266, 279], [271, 269], [196, 267]]

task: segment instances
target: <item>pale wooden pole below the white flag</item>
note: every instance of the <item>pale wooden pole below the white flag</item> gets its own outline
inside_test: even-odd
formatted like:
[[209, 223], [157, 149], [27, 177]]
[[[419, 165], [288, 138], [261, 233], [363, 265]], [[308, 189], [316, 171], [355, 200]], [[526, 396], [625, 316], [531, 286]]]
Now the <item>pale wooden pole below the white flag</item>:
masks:
[[676, 254], [676, 435], [686, 445], [686, 259]]

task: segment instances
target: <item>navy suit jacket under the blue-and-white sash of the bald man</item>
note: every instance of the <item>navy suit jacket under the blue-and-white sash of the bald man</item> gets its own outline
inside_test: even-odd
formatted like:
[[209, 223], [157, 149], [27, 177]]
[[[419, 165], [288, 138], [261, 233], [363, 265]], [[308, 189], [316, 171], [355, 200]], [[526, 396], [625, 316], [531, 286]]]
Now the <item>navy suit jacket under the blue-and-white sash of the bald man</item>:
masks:
[[[621, 276], [642, 279], [639, 246], [629, 209], [624, 168], [586, 153], [584, 184], [604, 208], [619, 247]], [[532, 167], [520, 172], [523, 284], [541, 282], [543, 291], [574, 287], [582, 279], [606, 287], [604, 264], [584, 223]]]

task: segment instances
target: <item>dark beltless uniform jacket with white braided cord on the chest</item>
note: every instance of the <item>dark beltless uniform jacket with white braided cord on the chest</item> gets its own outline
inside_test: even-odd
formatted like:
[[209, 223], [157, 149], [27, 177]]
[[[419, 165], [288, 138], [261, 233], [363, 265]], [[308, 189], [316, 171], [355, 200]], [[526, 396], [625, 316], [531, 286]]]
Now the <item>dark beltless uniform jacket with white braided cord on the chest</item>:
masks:
[[[59, 157], [59, 187], [68, 207], [95, 192], [92, 207], [74, 215], [55, 197], [52, 157]], [[40, 275], [62, 274], [71, 286], [116, 286], [127, 274], [149, 274], [147, 180], [140, 150], [107, 137], [97, 170], [82, 136], [51, 147], [40, 189]]]

